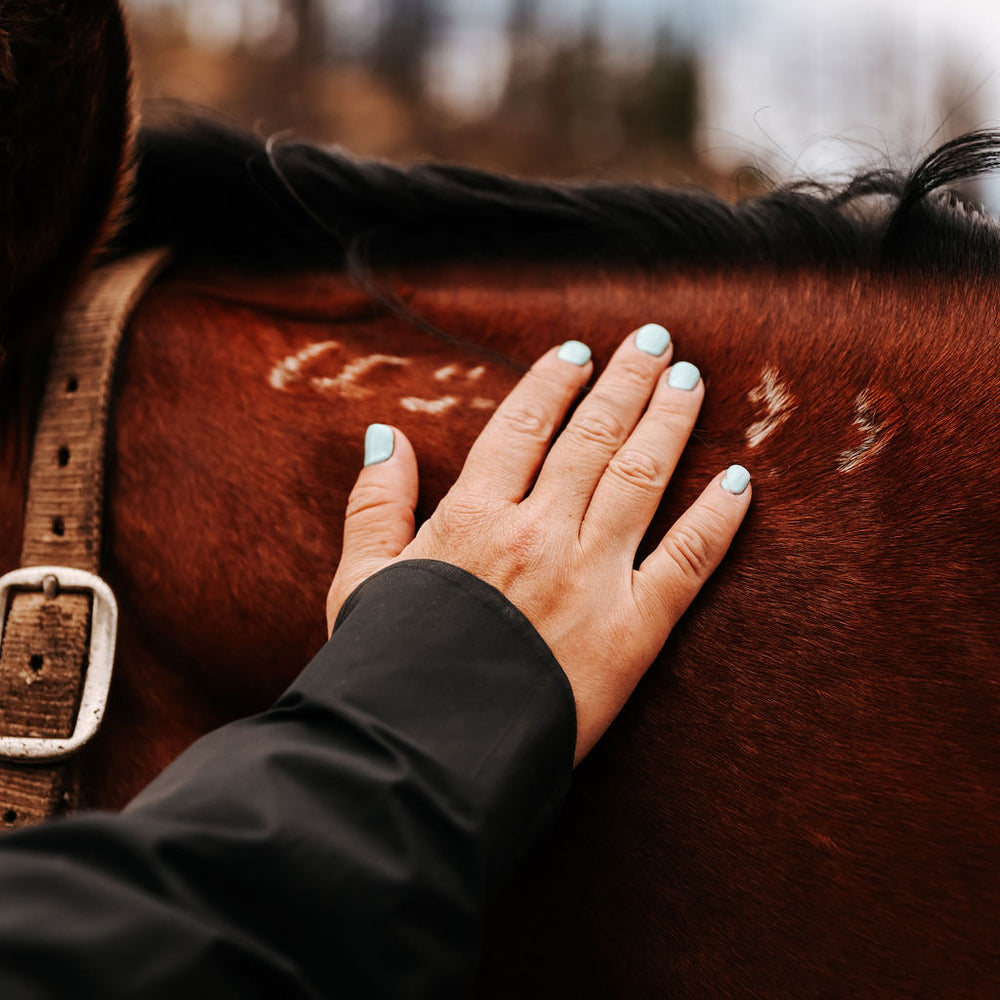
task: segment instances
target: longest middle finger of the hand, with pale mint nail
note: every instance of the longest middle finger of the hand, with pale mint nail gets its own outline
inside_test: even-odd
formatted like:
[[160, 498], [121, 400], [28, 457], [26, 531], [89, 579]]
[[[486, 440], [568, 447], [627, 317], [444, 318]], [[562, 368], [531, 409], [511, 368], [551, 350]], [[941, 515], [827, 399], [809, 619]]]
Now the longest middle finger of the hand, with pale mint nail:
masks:
[[533, 498], [583, 519], [608, 462], [632, 433], [672, 353], [662, 326], [649, 323], [629, 334], [552, 446]]

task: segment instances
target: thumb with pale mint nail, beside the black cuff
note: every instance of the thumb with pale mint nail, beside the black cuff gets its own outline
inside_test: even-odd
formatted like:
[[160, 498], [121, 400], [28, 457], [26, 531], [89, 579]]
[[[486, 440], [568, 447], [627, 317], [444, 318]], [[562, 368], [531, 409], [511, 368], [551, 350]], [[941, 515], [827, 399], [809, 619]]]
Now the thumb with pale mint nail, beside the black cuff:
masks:
[[340, 565], [327, 597], [328, 631], [348, 595], [413, 541], [417, 457], [406, 435], [386, 424], [365, 432], [365, 465], [347, 500]]

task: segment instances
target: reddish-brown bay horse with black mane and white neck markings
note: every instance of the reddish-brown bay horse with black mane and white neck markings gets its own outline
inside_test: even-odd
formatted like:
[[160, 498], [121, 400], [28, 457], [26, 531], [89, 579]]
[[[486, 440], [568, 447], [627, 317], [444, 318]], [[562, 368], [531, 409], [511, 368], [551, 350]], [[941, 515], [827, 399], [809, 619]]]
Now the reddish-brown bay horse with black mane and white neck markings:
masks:
[[[205, 119], [136, 138], [117, 5], [74, 6], [0, 11], [20, 116], [0, 117], [0, 569], [54, 314], [99, 253], [174, 255], [119, 364], [120, 634], [87, 804], [122, 806], [325, 640], [368, 423], [414, 443], [419, 523], [545, 348], [583, 340], [600, 370], [660, 322], [707, 393], [639, 557], [731, 462], [754, 503], [493, 901], [481, 995], [994, 996], [1000, 228], [947, 189], [1000, 165], [1000, 135], [736, 204], [403, 169]], [[32, 59], [53, 39], [80, 86], [46, 104]], [[74, 128], [47, 148], [79, 165], [57, 204], [25, 125], [53, 107]]]

